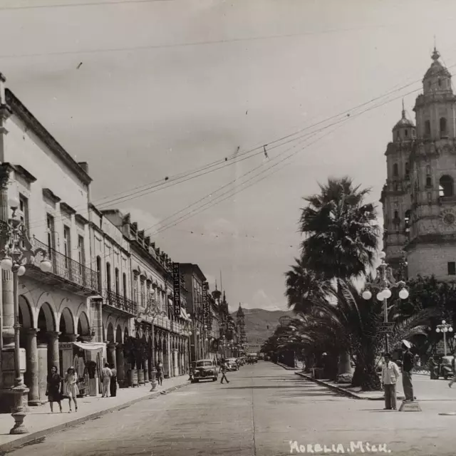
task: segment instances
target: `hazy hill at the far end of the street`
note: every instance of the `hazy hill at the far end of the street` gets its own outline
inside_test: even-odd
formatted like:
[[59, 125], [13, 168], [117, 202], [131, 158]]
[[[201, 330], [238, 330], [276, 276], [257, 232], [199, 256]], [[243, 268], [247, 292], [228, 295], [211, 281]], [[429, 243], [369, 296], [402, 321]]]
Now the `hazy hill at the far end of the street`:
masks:
[[[265, 309], [243, 309], [245, 314], [245, 331], [247, 333], [247, 351], [258, 352], [261, 343], [271, 336], [276, 326], [279, 324], [279, 318], [282, 316], [291, 316], [292, 311], [266, 311]], [[236, 321], [236, 312], [232, 313]]]

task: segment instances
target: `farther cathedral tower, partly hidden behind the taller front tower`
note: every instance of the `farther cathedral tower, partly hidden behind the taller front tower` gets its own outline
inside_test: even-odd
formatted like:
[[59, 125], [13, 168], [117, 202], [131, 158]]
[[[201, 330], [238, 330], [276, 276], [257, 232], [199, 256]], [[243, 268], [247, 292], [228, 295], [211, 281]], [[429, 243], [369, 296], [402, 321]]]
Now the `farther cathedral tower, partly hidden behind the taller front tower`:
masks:
[[383, 204], [383, 249], [386, 261], [398, 267], [410, 234], [410, 155], [415, 143], [415, 125], [405, 115], [393, 128], [393, 141], [386, 148], [387, 177], [380, 202]]

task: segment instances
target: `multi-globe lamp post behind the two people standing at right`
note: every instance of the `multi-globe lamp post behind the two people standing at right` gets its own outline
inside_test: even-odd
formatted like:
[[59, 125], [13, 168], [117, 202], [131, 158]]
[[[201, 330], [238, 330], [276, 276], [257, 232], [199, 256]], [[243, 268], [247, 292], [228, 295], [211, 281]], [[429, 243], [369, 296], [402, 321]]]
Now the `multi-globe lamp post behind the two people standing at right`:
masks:
[[377, 280], [373, 283], [366, 284], [366, 290], [363, 291], [363, 299], [369, 301], [372, 298], [372, 293], [370, 291], [373, 289], [380, 289], [376, 298], [378, 301], [383, 301], [383, 321], [385, 323], [385, 352], [388, 353], [388, 299], [391, 297], [391, 289], [399, 288], [399, 297], [400, 299], [408, 298], [408, 290], [405, 288], [404, 281], [396, 281], [393, 276], [393, 271], [388, 267], [388, 264], [385, 262], [385, 252], [380, 252], [378, 255], [381, 259], [381, 263], [378, 266], [378, 276]]

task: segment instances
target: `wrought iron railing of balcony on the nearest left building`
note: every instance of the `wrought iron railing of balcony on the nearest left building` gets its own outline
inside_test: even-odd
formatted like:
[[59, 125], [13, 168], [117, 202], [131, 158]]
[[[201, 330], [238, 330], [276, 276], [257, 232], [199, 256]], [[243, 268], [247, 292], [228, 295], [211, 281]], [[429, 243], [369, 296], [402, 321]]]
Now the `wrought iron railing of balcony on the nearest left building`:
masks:
[[[73, 282], [83, 288], [93, 291], [98, 290], [98, 276], [96, 271], [84, 266], [78, 261], [75, 261], [65, 255], [57, 252], [43, 242], [38, 241], [36, 237], [31, 239], [33, 249], [41, 248], [48, 252], [49, 260], [52, 263], [51, 274], [62, 277], [68, 281]], [[41, 258], [36, 258], [34, 261], [35, 266], [39, 266]]]

